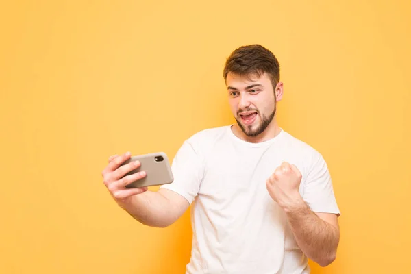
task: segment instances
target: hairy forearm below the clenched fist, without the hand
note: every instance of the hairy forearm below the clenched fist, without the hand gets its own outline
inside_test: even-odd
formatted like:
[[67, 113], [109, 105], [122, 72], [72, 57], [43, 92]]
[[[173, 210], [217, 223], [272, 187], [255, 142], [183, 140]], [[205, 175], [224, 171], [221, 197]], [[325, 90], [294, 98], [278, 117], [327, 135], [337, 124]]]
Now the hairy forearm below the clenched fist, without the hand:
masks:
[[306, 256], [321, 266], [333, 262], [340, 238], [338, 229], [314, 214], [303, 199], [285, 211], [297, 244]]

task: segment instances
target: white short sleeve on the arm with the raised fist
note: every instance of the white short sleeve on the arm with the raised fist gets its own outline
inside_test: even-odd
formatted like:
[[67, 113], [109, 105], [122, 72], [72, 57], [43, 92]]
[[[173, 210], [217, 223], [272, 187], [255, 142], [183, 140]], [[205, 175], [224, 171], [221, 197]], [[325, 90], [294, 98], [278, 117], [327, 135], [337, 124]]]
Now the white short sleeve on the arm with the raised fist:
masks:
[[327, 163], [316, 151], [304, 181], [303, 199], [313, 212], [340, 215]]

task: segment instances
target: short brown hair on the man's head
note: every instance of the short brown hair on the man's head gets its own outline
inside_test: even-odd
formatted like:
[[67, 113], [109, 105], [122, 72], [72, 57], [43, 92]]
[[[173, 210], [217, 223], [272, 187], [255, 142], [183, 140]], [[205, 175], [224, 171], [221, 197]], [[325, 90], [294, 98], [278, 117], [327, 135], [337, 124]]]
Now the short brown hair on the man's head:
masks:
[[258, 75], [267, 73], [275, 88], [279, 82], [279, 62], [275, 55], [261, 45], [246, 45], [234, 50], [225, 62], [223, 77], [228, 73], [238, 75]]

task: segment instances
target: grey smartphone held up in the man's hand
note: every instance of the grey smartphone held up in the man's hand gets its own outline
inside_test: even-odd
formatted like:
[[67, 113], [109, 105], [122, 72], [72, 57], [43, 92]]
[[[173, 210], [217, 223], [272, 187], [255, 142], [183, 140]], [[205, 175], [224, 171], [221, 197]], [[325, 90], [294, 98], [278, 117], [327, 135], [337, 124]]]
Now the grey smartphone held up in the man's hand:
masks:
[[142, 188], [145, 186], [160, 186], [162, 184], [171, 184], [174, 180], [173, 173], [171, 172], [171, 166], [169, 158], [166, 153], [149, 153], [144, 155], [132, 156], [129, 160], [126, 160], [121, 164], [122, 166], [129, 162], [140, 161], [140, 166], [132, 171], [129, 171], [125, 176], [131, 175], [140, 171], [145, 171], [146, 175], [142, 179], [138, 179], [130, 184], [127, 184], [126, 188]]

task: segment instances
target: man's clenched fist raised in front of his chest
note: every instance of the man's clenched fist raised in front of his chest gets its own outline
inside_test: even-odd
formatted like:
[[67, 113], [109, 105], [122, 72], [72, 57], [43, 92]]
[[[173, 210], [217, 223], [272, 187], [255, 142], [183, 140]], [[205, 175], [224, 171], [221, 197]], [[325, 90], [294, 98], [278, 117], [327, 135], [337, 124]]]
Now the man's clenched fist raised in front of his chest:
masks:
[[288, 210], [296, 203], [301, 202], [302, 198], [299, 194], [301, 177], [297, 166], [283, 162], [266, 180], [266, 187], [271, 198], [284, 210]]

